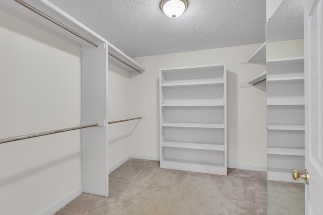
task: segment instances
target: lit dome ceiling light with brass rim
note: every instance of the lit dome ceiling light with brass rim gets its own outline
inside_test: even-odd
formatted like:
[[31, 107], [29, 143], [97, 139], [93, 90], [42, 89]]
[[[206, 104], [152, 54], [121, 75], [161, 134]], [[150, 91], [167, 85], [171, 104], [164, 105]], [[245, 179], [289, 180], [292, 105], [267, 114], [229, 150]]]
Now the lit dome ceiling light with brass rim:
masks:
[[187, 0], [161, 0], [159, 4], [160, 10], [166, 16], [176, 18], [181, 16], [188, 7]]

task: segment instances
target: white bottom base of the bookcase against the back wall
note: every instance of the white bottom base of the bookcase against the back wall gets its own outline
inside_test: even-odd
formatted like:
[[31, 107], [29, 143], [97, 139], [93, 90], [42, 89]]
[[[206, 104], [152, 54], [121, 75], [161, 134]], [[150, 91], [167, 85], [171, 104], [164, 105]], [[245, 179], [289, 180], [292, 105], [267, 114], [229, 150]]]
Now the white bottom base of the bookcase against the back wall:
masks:
[[228, 169], [224, 164], [210, 163], [210, 162], [199, 162], [189, 161], [181, 159], [170, 159], [165, 158], [160, 161], [161, 168], [168, 168], [174, 170], [183, 170], [190, 172], [209, 173], [217, 175], [227, 175]]

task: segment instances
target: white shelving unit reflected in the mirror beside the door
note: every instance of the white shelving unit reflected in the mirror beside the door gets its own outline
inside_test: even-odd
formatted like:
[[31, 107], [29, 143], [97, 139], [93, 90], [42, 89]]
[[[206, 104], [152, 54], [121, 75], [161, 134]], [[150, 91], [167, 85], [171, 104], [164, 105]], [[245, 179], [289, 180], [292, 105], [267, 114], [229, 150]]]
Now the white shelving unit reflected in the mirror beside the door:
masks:
[[267, 60], [268, 180], [298, 182], [305, 169], [304, 57]]

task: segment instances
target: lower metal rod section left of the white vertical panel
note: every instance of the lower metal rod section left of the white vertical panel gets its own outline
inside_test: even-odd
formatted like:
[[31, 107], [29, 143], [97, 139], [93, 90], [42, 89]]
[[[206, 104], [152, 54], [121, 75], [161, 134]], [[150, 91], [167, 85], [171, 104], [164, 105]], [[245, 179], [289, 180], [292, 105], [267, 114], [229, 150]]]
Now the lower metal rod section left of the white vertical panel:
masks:
[[94, 126], [98, 126], [98, 125], [99, 125], [99, 123], [94, 123], [94, 124], [81, 125], [81, 126], [70, 127], [70, 128], [63, 128], [63, 129], [58, 129], [58, 130], [45, 131], [45, 132], [40, 132], [40, 133], [14, 136], [14, 137], [0, 139], [0, 144], [4, 144], [5, 142], [12, 142], [12, 141], [16, 141], [16, 140], [21, 140], [21, 139], [33, 138], [33, 137], [37, 137], [37, 136], [44, 136], [44, 135], [48, 135], [48, 134], [55, 134], [55, 133], [61, 133], [61, 132], [70, 131], [70, 130], [77, 130], [77, 129], [81, 129], [81, 128], [94, 127]]

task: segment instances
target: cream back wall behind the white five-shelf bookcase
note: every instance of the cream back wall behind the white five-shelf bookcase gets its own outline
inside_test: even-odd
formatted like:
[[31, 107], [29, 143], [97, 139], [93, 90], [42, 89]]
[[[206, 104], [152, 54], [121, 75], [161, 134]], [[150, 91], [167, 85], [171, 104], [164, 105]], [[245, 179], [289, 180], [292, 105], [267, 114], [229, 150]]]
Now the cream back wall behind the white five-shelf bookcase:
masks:
[[240, 64], [261, 44], [134, 58], [147, 71], [130, 81], [130, 114], [145, 115], [131, 135], [133, 153], [159, 156], [159, 68], [227, 63], [228, 162], [266, 165], [265, 84], [240, 88], [265, 70], [264, 65]]

